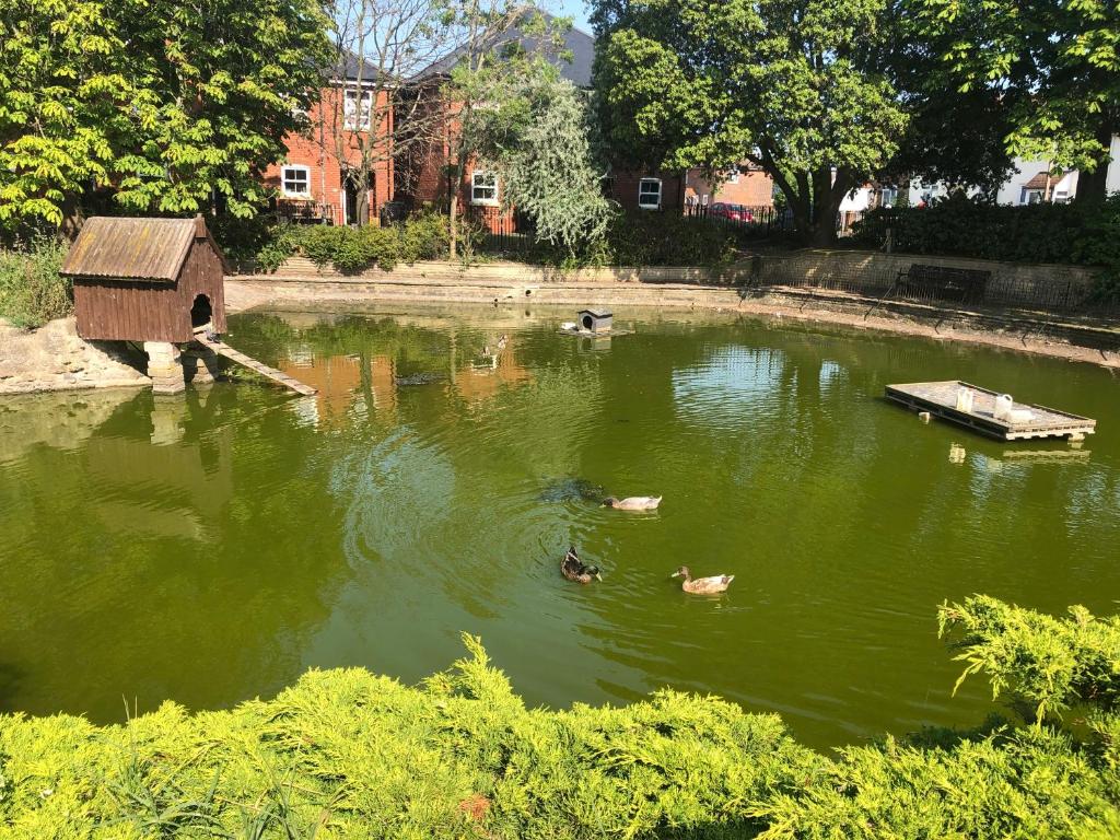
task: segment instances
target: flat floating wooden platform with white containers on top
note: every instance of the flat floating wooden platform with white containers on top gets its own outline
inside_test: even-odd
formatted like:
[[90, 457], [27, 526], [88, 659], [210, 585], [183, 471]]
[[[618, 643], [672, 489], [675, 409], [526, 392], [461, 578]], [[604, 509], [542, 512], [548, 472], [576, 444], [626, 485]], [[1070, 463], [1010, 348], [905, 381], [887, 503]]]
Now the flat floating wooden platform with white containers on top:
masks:
[[[972, 411], [956, 410], [956, 390], [969, 388], [976, 396]], [[1092, 435], [1096, 421], [1067, 411], [1048, 409], [1045, 405], [1026, 405], [1015, 403], [1019, 410], [1029, 410], [1033, 417], [1024, 422], [1011, 423], [997, 420], [992, 416], [996, 408], [998, 391], [979, 385], [970, 385], [960, 380], [948, 382], [911, 382], [902, 385], [887, 385], [887, 399], [902, 403], [916, 411], [928, 411], [934, 417], [951, 420], [967, 426], [981, 435], [999, 440], [1025, 440], [1028, 438], [1076, 438]]]

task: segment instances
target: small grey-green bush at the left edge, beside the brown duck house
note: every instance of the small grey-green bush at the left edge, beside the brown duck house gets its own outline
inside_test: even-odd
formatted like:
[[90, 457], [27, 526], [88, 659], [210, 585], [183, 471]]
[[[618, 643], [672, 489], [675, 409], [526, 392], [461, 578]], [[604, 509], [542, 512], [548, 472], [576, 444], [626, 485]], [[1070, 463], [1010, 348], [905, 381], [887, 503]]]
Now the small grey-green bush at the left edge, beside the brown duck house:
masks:
[[62, 277], [66, 244], [40, 236], [0, 250], [0, 317], [18, 327], [38, 327], [74, 311], [74, 289]]

